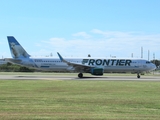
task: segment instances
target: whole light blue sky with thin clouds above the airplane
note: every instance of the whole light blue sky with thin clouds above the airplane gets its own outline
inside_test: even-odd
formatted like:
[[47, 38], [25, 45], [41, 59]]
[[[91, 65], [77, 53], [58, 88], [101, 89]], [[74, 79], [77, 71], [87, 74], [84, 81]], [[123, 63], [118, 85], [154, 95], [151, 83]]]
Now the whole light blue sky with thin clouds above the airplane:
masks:
[[159, 0], [0, 0], [0, 57], [14, 36], [32, 56], [160, 59]]

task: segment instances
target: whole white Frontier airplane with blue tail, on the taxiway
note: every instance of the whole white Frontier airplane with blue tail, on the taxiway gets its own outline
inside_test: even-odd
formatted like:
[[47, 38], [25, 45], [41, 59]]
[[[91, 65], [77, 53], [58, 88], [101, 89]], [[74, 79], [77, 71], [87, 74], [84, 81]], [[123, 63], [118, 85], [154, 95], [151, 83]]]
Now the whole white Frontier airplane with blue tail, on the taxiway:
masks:
[[86, 57], [64, 59], [58, 52], [57, 58], [31, 57], [13, 36], [7, 36], [7, 39], [12, 58], [6, 58], [6, 61], [44, 71], [79, 72], [79, 78], [83, 78], [83, 73], [102, 76], [107, 72], [131, 72], [137, 73], [137, 78], [140, 78], [141, 73], [156, 69], [155, 64], [150, 61], [135, 58]]

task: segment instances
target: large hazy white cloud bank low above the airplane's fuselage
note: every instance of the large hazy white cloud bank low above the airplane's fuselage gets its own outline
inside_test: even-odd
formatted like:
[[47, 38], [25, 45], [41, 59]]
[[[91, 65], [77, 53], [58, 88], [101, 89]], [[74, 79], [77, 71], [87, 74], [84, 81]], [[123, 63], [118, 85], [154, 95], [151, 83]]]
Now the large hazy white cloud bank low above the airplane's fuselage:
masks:
[[[91, 34], [91, 35], [90, 35]], [[47, 49], [48, 54], [51, 52], [57, 56], [56, 52], [60, 52], [65, 56], [92, 56], [99, 57], [134, 57], [141, 56], [141, 47], [144, 50], [144, 58], [148, 58], [148, 50], [150, 54], [157, 54], [160, 51], [160, 34], [144, 34], [135, 32], [121, 31], [102, 31], [93, 29], [90, 34], [79, 32], [73, 34], [72, 39], [51, 38], [42, 41], [43, 49]], [[99, 37], [97, 37], [99, 34]], [[80, 39], [79, 36], [82, 36]], [[150, 57], [151, 58], [151, 57]], [[160, 56], [159, 58], [160, 59]]]

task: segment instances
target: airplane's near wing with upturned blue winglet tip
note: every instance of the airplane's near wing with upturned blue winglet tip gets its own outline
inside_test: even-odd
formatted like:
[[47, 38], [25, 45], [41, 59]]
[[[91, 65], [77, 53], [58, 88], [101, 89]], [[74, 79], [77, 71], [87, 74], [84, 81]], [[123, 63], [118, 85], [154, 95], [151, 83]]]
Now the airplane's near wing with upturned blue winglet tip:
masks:
[[90, 70], [90, 68], [94, 68], [95, 66], [89, 66], [89, 65], [84, 65], [84, 64], [79, 64], [79, 63], [73, 63], [73, 62], [68, 62], [65, 59], [63, 59], [63, 57], [57, 52], [60, 60], [66, 64], [68, 64], [69, 66], [72, 66], [75, 68], [75, 70], [77, 71], [88, 71]]

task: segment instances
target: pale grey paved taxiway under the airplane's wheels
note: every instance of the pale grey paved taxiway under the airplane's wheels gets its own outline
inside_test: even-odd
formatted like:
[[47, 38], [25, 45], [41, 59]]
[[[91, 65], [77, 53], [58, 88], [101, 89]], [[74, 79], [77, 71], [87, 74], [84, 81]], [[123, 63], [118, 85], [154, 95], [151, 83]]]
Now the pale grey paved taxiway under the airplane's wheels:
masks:
[[136, 75], [131, 76], [89, 76], [78, 78], [73, 75], [0, 75], [0, 80], [115, 80], [115, 81], [159, 81], [160, 76], [141, 76], [140, 79]]

